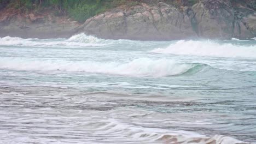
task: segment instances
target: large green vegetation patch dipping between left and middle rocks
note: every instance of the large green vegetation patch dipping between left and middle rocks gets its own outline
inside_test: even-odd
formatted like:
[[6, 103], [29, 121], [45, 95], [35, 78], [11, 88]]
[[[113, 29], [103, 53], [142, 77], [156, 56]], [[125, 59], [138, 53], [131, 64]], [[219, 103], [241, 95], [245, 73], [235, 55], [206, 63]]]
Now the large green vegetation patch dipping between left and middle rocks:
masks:
[[55, 10], [55, 15], [67, 15], [72, 19], [84, 22], [89, 17], [102, 13], [118, 5], [136, 5], [135, 1], [125, 0], [0, 0], [0, 9], [6, 5], [19, 9], [21, 13], [38, 12], [45, 9]]

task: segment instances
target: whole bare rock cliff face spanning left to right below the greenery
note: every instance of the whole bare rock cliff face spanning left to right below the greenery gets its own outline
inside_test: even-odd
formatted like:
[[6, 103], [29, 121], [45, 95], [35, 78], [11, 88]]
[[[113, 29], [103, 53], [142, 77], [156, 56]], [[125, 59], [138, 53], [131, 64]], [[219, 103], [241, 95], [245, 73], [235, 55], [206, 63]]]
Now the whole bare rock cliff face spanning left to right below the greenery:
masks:
[[201, 0], [189, 5], [188, 1], [179, 0], [177, 3], [183, 6], [176, 8], [166, 0], [140, 2], [108, 10], [83, 25], [50, 14], [2, 13], [0, 37], [66, 38], [82, 32], [105, 39], [135, 40], [256, 37], [256, 4], [248, 3], [247, 7], [235, 3], [234, 7], [231, 0]]

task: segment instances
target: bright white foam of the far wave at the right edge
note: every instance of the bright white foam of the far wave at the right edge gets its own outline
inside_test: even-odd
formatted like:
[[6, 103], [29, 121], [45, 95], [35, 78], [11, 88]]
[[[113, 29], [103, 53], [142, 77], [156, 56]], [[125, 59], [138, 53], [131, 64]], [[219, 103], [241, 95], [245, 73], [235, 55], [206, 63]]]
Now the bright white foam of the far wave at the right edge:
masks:
[[256, 57], [256, 45], [240, 46], [226, 43], [219, 44], [210, 40], [179, 40], [166, 49], [159, 48], [151, 52], [214, 57]]

